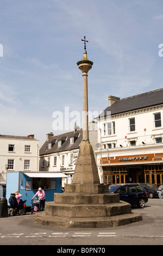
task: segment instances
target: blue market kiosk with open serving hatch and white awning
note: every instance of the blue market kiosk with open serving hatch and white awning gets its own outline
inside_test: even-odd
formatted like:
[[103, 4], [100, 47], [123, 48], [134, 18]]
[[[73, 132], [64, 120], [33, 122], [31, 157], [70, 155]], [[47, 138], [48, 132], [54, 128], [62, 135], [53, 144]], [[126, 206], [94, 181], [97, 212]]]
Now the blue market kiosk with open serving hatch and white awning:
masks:
[[[26, 205], [31, 206], [31, 199], [41, 187], [45, 191], [46, 202], [54, 201], [54, 193], [62, 192], [62, 178], [67, 175], [61, 172], [7, 172], [7, 194], [9, 200], [10, 194], [17, 190], [22, 194], [22, 200], [27, 200]], [[9, 203], [8, 203], [9, 204]]]

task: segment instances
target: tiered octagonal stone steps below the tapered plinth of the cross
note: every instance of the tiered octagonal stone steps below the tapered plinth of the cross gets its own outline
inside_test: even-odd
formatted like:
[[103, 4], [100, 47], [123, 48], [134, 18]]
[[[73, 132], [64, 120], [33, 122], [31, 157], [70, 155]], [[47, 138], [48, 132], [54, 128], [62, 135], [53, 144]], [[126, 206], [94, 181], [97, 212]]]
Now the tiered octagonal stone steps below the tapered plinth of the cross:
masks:
[[[55, 202], [46, 202], [36, 212], [35, 223], [65, 228], [105, 228], [141, 221], [119, 194], [55, 193]], [[72, 204], [73, 202], [73, 204]]]

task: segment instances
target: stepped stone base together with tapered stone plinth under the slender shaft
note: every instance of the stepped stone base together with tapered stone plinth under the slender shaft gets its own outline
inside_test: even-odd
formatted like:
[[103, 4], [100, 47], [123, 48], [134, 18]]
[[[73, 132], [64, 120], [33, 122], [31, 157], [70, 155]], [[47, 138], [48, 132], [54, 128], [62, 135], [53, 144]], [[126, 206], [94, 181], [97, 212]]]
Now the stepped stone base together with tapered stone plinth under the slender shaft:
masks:
[[92, 146], [80, 145], [72, 184], [64, 193], [54, 193], [54, 202], [45, 203], [44, 212], [36, 212], [35, 223], [63, 228], [106, 228], [141, 221], [119, 194], [108, 193], [109, 185], [99, 183]]

